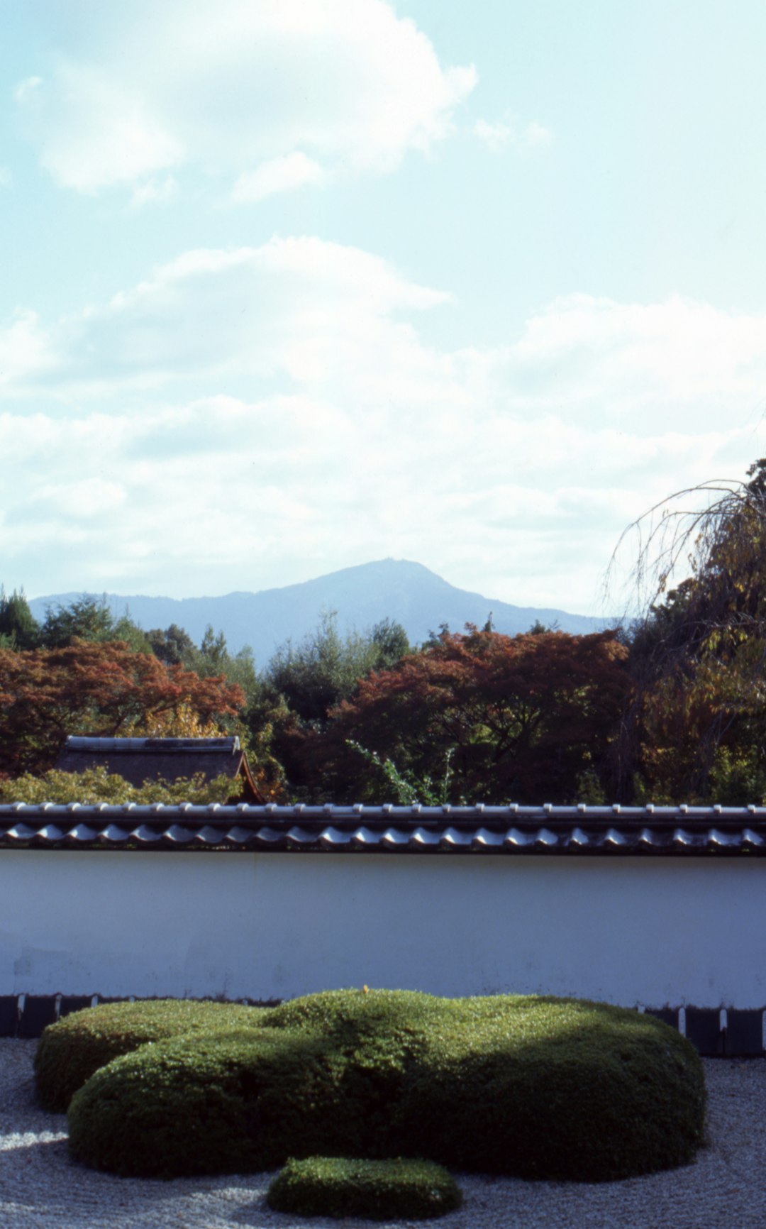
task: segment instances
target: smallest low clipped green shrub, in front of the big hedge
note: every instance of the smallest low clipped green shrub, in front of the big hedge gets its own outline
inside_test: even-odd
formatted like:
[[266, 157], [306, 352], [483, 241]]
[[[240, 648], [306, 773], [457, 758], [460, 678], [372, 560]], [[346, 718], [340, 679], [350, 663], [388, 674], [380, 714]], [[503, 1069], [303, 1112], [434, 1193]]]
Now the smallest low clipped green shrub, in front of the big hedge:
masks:
[[287, 1161], [266, 1202], [275, 1212], [301, 1217], [425, 1220], [454, 1212], [463, 1196], [451, 1174], [433, 1161], [308, 1156]]

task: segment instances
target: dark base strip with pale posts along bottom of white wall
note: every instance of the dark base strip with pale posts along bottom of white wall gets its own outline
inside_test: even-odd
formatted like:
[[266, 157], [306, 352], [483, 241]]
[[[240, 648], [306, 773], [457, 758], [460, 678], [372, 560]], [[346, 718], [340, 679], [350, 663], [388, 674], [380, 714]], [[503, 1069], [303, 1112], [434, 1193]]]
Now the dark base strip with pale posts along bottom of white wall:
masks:
[[[0, 995], [0, 1037], [39, 1037], [49, 1024], [98, 1003], [125, 999], [101, 994], [5, 994]], [[276, 1007], [281, 999], [237, 999], [249, 1007]], [[766, 1008], [646, 1008], [665, 1024], [679, 1029], [706, 1057], [762, 1058]]]

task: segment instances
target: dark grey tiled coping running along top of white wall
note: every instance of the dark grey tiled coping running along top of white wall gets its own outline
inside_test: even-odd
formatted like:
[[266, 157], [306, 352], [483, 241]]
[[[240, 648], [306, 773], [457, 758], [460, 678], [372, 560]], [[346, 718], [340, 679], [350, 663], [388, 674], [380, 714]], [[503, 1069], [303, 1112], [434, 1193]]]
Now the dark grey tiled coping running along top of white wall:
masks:
[[6, 803], [0, 848], [766, 855], [766, 807]]

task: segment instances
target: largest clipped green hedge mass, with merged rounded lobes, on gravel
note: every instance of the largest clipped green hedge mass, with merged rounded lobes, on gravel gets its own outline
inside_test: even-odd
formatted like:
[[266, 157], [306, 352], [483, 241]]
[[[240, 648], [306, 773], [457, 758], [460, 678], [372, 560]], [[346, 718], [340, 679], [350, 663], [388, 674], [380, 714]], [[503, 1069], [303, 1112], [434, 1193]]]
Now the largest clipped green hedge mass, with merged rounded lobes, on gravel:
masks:
[[417, 1156], [605, 1181], [692, 1160], [705, 1084], [653, 1016], [574, 999], [340, 991], [103, 1067], [70, 1106], [72, 1154], [123, 1175]]

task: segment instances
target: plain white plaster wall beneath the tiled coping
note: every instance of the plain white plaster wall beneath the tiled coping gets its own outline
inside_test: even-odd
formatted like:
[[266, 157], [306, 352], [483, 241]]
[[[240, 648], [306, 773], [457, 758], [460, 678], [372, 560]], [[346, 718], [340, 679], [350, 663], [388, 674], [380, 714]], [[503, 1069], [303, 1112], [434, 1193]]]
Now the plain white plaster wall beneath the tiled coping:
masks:
[[0, 994], [766, 1005], [766, 859], [0, 852]]

